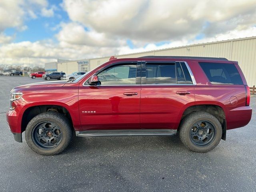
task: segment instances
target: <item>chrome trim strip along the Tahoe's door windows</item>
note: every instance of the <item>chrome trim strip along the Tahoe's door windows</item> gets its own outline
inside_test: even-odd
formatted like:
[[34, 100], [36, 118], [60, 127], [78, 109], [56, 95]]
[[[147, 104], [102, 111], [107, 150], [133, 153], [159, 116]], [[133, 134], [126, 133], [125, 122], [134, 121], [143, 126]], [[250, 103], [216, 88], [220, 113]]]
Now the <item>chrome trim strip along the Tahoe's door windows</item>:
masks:
[[[187, 85], [190, 85], [190, 86], [194, 86], [196, 85], [196, 80], [194, 78], [194, 75], [190, 69], [190, 67], [188, 66], [188, 63], [186, 61], [175, 61], [175, 62], [184, 62], [187, 69], [188, 69], [188, 72], [190, 74], [190, 77], [192, 79], [192, 84], [122, 84], [122, 85], [94, 85], [94, 86], [187, 86]], [[87, 86], [92, 86], [92, 85], [85, 85], [85, 82], [90, 79], [93, 75], [95, 75], [96, 73], [92, 74], [89, 78], [87, 78], [84, 83], [83, 83], [83, 86], [84, 87], [87, 87]]]

